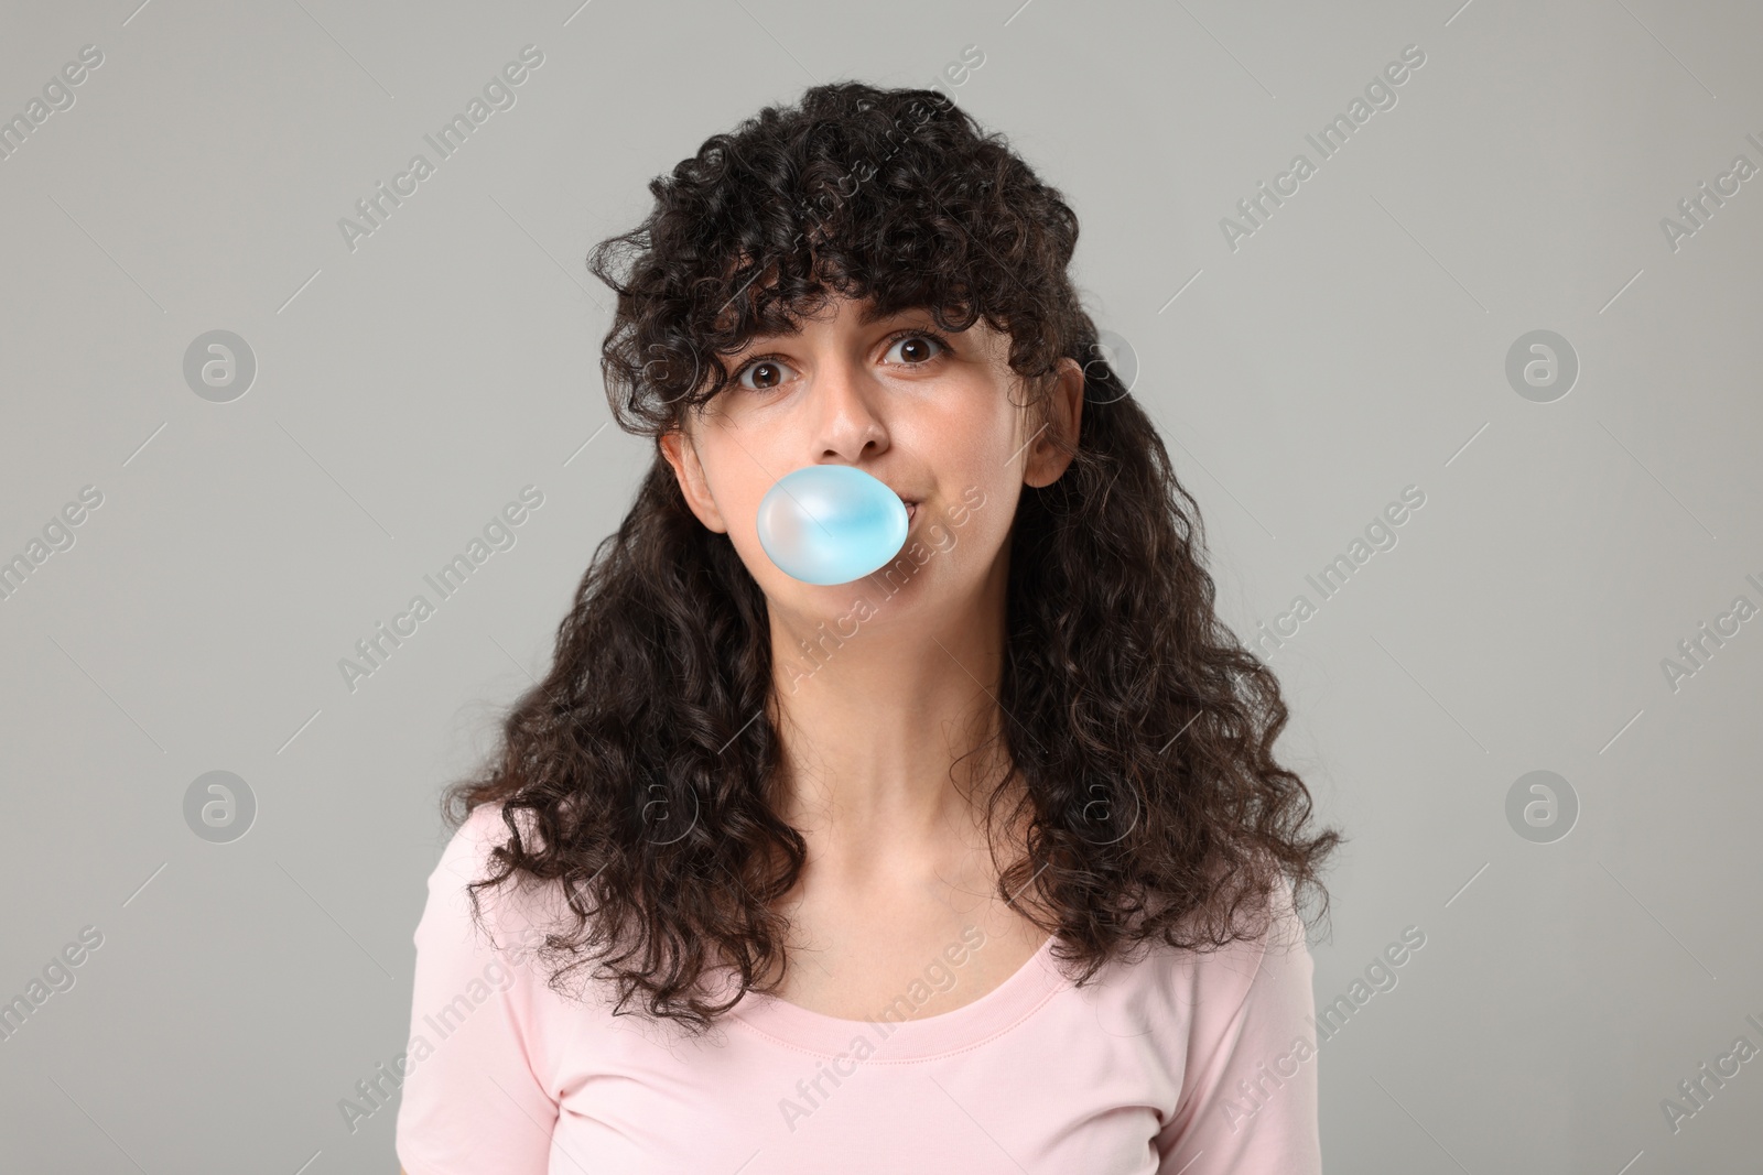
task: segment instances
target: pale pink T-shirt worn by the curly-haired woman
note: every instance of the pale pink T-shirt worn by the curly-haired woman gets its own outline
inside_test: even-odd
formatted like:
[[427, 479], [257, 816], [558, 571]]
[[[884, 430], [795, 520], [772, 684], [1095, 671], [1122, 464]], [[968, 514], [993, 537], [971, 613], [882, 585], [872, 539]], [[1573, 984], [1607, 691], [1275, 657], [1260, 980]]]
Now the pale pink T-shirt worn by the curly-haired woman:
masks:
[[871, 1020], [748, 992], [693, 1041], [612, 1016], [598, 987], [591, 1002], [552, 992], [524, 950], [555, 909], [543, 893], [481, 891], [495, 946], [478, 934], [464, 886], [504, 839], [499, 805], [480, 807], [428, 877], [393, 1064], [409, 1175], [1322, 1170], [1312, 960], [1289, 891], [1275, 935], [1158, 946], [1082, 988], [1049, 939], [980, 999], [903, 1018], [961, 983], [986, 950], [970, 930]]

